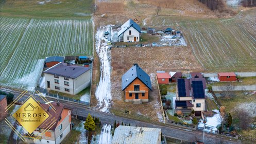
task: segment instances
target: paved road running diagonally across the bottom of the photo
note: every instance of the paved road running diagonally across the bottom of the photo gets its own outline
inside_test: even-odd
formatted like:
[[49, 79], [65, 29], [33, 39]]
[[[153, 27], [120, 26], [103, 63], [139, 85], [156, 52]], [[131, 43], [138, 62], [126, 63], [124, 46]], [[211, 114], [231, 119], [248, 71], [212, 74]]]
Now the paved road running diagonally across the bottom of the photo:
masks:
[[[15, 93], [14, 94], [14, 99], [20, 95], [20, 93]], [[19, 99], [20, 102], [24, 101], [29, 94], [24, 95], [21, 99]], [[49, 101], [55, 100], [55, 99], [50, 99], [47, 98]], [[40, 102], [44, 103], [44, 101], [38, 97]], [[113, 124], [114, 120], [124, 122], [126, 124], [130, 123], [132, 126], [140, 126], [140, 127], [149, 127], [149, 128], [159, 128], [162, 130], [162, 134], [167, 136], [167, 137], [172, 137], [175, 139], [180, 139], [180, 140], [185, 140], [185, 141], [197, 141], [200, 140], [202, 141], [202, 132], [201, 131], [194, 131], [194, 130], [189, 130], [189, 129], [184, 129], [180, 127], [176, 127], [175, 125], [167, 125], [167, 124], [153, 124], [153, 123], [147, 123], [147, 122], [142, 122], [138, 120], [133, 120], [125, 117], [119, 117], [115, 116], [113, 114], [107, 114], [95, 110], [89, 110], [84, 106], [73, 104], [73, 103], [68, 103], [65, 101], [60, 101], [63, 103], [66, 107], [70, 107], [72, 109], [72, 114], [73, 115], [79, 115], [86, 117], [88, 113], [90, 113], [92, 116], [98, 117], [101, 120], [101, 123], [108, 123], [108, 124]], [[226, 137], [220, 137], [218, 135], [213, 135], [213, 134], [206, 134], [205, 135], [205, 143], [238, 143], [238, 140], [235, 139], [227, 139]]]

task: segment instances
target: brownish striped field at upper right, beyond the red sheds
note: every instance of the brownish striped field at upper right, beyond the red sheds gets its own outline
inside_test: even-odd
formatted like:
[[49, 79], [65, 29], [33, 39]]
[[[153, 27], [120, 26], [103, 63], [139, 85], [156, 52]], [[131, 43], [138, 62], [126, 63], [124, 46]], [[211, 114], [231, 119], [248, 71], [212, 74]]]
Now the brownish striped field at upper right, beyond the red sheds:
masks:
[[256, 66], [255, 9], [232, 19], [157, 16], [148, 26], [180, 29], [193, 53], [209, 71], [254, 71]]

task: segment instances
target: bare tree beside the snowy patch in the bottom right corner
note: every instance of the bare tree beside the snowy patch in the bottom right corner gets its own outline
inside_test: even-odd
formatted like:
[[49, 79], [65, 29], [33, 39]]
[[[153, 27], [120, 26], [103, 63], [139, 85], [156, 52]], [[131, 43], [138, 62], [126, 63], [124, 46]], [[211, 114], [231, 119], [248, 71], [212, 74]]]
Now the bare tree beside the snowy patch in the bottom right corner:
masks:
[[237, 112], [237, 117], [239, 119], [240, 128], [243, 130], [248, 129], [252, 120], [250, 114], [246, 110], [241, 109]]

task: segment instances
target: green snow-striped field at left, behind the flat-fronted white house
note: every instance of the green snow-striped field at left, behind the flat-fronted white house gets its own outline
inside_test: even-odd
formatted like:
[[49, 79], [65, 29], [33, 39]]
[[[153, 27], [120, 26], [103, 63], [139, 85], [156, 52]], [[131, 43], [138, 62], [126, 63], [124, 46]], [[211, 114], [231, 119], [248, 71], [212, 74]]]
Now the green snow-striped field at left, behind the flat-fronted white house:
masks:
[[33, 89], [48, 56], [93, 52], [91, 20], [1, 17], [1, 85]]

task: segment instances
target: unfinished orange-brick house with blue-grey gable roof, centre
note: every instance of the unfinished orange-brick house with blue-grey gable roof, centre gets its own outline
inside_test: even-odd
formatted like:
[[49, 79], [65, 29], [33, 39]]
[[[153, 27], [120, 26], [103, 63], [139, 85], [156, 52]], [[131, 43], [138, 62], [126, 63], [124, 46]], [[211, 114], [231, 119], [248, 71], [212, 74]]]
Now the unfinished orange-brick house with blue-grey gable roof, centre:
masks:
[[150, 77], [138, 64], [133, 64], [122, 76], [122, 91], [125, 92], [126, 102], [148, 102], [151, 90]]

